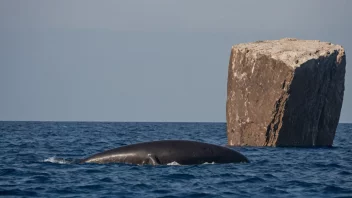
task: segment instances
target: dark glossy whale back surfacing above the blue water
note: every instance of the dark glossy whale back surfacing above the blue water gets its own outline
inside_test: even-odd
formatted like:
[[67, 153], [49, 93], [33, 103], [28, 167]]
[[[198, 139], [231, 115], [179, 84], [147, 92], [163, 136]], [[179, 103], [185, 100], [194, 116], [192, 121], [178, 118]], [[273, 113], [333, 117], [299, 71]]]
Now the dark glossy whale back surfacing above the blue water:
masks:
[[249, 162], [241, 153], [232, 149], [188, 140], [163, 140], [122, 146], [92, 155], [80, 163], [125, 163], [181, 165], [203, 163]]

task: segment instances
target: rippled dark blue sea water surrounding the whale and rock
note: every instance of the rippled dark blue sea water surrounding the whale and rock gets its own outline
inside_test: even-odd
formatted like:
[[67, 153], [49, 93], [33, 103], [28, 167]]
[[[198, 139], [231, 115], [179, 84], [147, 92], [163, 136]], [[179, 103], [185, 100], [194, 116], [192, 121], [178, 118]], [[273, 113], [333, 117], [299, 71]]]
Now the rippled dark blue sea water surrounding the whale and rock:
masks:
[[332, 148], [232, 147], [248, 164], [70, 163], [164, 139], [226, 145], [226, 124], [0, 122], [0, 195], [352, 197], [352, 124], [339, 124]]

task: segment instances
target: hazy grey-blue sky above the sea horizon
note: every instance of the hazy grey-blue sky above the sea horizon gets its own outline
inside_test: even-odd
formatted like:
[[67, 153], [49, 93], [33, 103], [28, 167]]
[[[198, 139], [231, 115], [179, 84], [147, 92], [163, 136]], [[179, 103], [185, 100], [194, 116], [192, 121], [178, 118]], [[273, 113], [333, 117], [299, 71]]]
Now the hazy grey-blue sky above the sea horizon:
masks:
[[0, 120], [225, 122], [231, 46], [285, 37], [346, 51], [352, 1], [0, 0]]

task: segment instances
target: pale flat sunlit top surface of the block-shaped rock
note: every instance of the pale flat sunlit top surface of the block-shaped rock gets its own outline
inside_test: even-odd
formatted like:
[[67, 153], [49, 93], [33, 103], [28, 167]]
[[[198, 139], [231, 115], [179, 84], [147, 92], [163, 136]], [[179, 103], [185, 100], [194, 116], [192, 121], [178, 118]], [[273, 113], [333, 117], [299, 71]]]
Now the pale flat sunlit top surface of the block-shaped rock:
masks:
[[299, 40], [294, 38], [242, 43], [234, 45], [232, 49], [245, 51], [254, 56], [257, 54], [268, 55], [273, 59], [283, 61], [293, 68], [310, 59], [330, 56], [334, 51], [338, 51], [339, 55], [344, 54], [344, 49], [340, 45], [319, 40]]

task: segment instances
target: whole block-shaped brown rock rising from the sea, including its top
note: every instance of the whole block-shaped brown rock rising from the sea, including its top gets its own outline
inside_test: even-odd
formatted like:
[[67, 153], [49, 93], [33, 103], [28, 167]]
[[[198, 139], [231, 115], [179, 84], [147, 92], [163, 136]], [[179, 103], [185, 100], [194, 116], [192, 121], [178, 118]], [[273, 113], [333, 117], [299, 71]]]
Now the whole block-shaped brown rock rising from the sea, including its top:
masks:
[[227, 84], [229, 145], [331, 146], [344, 94], [346, 57], [315, 40], [232, 47]]

